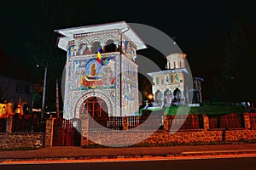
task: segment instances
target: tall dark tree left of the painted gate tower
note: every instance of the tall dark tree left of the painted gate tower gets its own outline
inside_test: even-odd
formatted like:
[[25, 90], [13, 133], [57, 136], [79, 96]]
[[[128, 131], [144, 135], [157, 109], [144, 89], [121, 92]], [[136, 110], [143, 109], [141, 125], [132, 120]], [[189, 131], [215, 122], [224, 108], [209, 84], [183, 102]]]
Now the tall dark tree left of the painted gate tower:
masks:
[[[42, 19], [32, 26], [31, 36], [26, 43], [27, 52], [30, 56], [28, 65], [32, 70], [34, 81], [40, 88], [36, 90], [34, 105], [41, 105], [44, 84], [44, 69], [47, 67], [47, 88], [46, 107], [49, 110], [55, 109], [55, 80], [61, 80], [62, 72], [66, 62], [66, 52], [55, 46], [57, 35], [54, 30], [62, 26], [67, 26], [71, 17], [68, 17], [66, 10], [61, 8], [61, 1], [44, 1], [42, 5], [47, 10], [44, 11]], [[61, 12], [62, 11], [62, 12]], [[67, 20], [61, 23], [62, 17], [67, 16]], [[63, 21], [63, 20], [62, 20]], [[60, 87], [59, 87], [60, 88]]]

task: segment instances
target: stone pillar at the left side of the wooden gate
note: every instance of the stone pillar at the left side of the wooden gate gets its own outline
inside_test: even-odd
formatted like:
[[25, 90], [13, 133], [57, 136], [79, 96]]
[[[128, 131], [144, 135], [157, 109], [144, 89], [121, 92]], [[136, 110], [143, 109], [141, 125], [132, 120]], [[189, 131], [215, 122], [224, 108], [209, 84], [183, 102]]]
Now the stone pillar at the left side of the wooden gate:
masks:
[[44, 142], [43, 145], [45, 147], [52, 146], [54, 121], [55, 121], [55, 118], [46, 119], [46, 127], [45, 127], [45, 134], [44, 134], [45, 138], [43, 139], [43, 142]]

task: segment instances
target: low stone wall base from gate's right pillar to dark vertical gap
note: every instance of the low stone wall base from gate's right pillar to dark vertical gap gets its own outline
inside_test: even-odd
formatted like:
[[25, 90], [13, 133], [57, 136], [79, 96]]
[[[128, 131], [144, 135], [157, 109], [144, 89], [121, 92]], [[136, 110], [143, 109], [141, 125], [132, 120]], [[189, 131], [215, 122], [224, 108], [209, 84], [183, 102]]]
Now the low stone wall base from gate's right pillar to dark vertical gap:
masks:
[[82, 146], [95, 144], [91, 142], [90, 139], [93, 139], [97, 144], [109, 144], [113, 146], [118, 146], [120, 142], [123, 142], [122, 139], [126, 139], [125, 143], [123, 143], [124, 145], [211, 143], [221, 142], [223, 139], [223, 131], [186, 130], [178, 131], [173, 134], [163, 130], [156, 132], [134, 131], [129, 133], [118, 131], [108, 133], [91, 132], [87, 133], [87, 135], [84, 135], [82, 138]]

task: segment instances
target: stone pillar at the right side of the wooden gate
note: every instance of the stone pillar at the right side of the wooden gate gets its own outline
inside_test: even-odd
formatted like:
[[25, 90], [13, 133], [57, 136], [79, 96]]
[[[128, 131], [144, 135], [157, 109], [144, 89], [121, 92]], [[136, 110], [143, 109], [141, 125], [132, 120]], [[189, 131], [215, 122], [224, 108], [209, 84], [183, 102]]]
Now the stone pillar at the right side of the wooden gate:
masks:
[[88, 145], [89, 144], [89, 117], [87, 114], [86, 116], [81, 117], [81, 145]]

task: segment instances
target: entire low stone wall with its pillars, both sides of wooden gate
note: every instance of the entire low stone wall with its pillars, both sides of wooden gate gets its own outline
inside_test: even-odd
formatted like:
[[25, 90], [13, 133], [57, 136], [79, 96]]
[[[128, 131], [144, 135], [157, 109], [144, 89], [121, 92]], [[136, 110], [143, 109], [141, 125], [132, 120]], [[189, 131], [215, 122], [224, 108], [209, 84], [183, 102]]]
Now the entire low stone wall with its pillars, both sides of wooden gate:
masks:
[[[123, 117], [123, 131], [109, 130], [91, 131], [88, 117], [81, 120], [81, 146], [90, 144], [107, 144], [111, 146], [131, 144], [192, 144], [192, 143], [216, 143], [216, 142], [239, 142], [256, 140], [255, 114], [243, 114], [244, 125], [242, 128], [219, 128], [210, 129], [209, 117], [202, 115], [203, 126], [197, 129], [179, 129], [170, 132], [170, 122], [167, 116], [163, 117], [163, 129], [132, 130], [128, 128], [127, 117]], [[44, 133], [13, 133], [13, 120], [6, 122], [5, 133], [0, 133], [0, 149], [9, 148], [36, 148], [51, 147], [54, 137], [54, 120], [47, 119]], [[197, 126], [195, 126], [197, 127]], [[124, 142], [125, 141], [125, 142]]]

